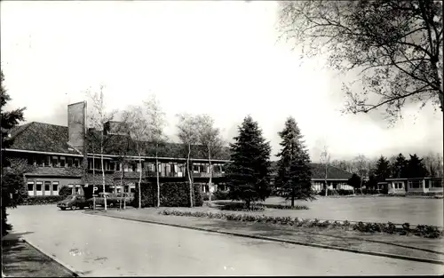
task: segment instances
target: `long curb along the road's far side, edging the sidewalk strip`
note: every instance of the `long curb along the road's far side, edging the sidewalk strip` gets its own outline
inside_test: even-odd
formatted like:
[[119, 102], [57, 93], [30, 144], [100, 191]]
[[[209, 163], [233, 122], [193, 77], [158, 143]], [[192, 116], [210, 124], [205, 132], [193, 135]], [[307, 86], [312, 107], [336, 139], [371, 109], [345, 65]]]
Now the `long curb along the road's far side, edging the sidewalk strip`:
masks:
[[[89, 213], [86, 213], [86, 214], [89, 214]], [[97, 214], [90, 214], [90, 215], [97, 215]], [[388, 254], [388, 253], [381, 253], [381, 252], [356, 250], [356, 249], [349, 249], [349, 248], [345, 248], [345, 247], [329, 246], [329, 245], [324, 245], [324, 244], [319, 244], [319, 243], [297, 242], [297, 241], [292, 241], [292, 240], [279, 239], [279, 238], [275, 238], [275, 237], [217, 231], [217, 230], [210, 230], [210, 229], [196, 227], [196, 226], [169, 224], [169, 223], [164, 223], [164, 222], [157, 222], [157, 221], [152, 221], [152, 220], [141, 220], [141, 219], [135, 219], [135, 218], [124, 218], [124, 217], [114, 216], [114, 215], [101, 214], [101, 216], [105, 216], [108, 218], [119, 218], [119, 219], [124, 219], [124, 220], [143, 222], [143, 223], [149, 223], [149, 224], [155, 224], [155, 225], [175, 226], [175, 227], [181, 227], [181, 228], [186, 228], [186, 229], [190, 229], [190, 230], [203, 231], [203, 232], [209, 232], [209, 233], [215, 233], [215, 234], [228, 234], [228, 235], [234, 235], [234, 236], [240, 236], [240, 237], [254, 238], [254, 239], [259, 239], [259, 240], [266, 240], [269, 242], [289, 243], [289, 244], [317, 247], [317, 248], [329, 249], [329, 250], [340, 250], [340, 251], [345, 251], [345, 252], [352, 252], [352, 253], [377, 256], [377, 257], [398, 258], [398, 259], [405, 259], [405, 260], [422, 262], [422, 263], [429, 263], [429, 264], [435, 264], [435, 265], [444, 265], [443, 261], [440, 261], [437, 259], [432, 259], [432, 258], [416, 258], [416, 257], [409, 257], [409, 256], [395, 255], [395, 254]]]

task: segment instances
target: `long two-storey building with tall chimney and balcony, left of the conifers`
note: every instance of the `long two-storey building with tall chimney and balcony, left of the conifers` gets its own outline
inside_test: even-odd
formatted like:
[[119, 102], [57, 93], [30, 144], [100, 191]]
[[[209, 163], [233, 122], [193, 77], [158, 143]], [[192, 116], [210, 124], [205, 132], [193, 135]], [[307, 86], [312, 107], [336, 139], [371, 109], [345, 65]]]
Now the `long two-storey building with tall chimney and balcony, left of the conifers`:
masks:
[[[9, 134], [12, 146], [3, 149], [9, 159], [27, 163], [31, 170], [25, 172], [28, 195], [59, 195], [60, 187], [72, 188], [73, 194], [92, 195], [97, 187], [102, 191], [105, 178], [107, 192], [133, 192], [142, 179], [156, 180], [155, 147], [147, 144], [147, 152], [141, 157], [136, 152], [134, 141], [121, 129], [122, 124], [105, 124], [104, 174], [99, 154], [101, 131], [86, 128], [86, 102], [67, 107], [67, 126], [48, 123], [26, 123]], [[86, 136], [85, 136], [86, 134]], [[158, 148], [157, 161], [162, 182], [185, 180], [186, 153], [180, 144], [166, 143]], [[202, 147], [194, 146], [191, 155], [192, 179], [202, 183], [202, 190], [208, 191], [210, 167]], [[212, 159], [213, 184], [221, 183], [228, 152]], [[87, 171], [83, 171], [87, 168]], [[225, 189], [223, 184], [221, 189]]]

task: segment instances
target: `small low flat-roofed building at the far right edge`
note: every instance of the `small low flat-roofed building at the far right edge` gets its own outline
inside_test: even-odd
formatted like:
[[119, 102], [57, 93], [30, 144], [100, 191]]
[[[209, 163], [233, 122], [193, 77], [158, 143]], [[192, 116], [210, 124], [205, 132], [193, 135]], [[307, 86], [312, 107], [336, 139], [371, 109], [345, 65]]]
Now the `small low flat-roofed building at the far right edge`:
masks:
[[389, 194], [443, 193], [443, 178], [385, 179]]

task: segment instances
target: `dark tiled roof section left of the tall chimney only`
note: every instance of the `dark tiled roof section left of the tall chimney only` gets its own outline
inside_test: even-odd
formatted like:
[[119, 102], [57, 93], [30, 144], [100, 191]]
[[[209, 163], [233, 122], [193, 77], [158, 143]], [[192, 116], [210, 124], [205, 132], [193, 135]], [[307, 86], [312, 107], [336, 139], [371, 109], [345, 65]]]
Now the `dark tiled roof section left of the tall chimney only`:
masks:
[[78, 155], [68, 149], [66, 126], [31, 122], [12, 129], [10, 134], [12, 149]]

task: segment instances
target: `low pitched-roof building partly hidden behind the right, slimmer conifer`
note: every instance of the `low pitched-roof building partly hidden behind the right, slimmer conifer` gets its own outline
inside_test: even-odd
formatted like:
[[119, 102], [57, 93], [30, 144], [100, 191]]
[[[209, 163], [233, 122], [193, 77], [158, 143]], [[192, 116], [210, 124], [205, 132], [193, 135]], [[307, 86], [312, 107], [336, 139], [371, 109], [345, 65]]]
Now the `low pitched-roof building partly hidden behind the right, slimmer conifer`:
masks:
[[[352, 177], [352, 174], [348, 171], [344, 171], [337, 167], [329, 165], [327, 167], [327, 178], [325, 172], [325, 165], [321, 163], [310, 163], [312, 168], [312, 187], [313, 191], [320, 192], [326, 183], [327, 187], [331, 189], [344, 189], [353, 190], [353, 187], [347, 184], [348, 179]], [[277, 162], [272, 163], [273, 178], [277, 176]]]

